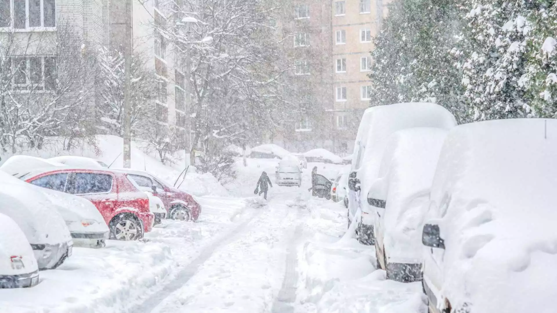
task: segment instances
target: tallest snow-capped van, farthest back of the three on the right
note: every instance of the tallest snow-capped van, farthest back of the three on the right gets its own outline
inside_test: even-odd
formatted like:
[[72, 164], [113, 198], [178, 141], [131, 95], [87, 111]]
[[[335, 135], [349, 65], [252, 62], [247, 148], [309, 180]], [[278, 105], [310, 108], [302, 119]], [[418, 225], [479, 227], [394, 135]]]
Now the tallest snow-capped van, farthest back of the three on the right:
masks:
[[[360, 216], [356, 232], [363, 244], [374, 244], [373, 225], [377, 213], [367, 202], [369, 188], [377, 179], [387, 138], [395, 131], [432, 127], [451, 129], [455, 117], [444, 107], [433, 103], [399, 103], [374, 106], [365, 110], [354, 143], [349, 174], [348, 219]], [[361, 211], [361, 214], [357, 214]]]

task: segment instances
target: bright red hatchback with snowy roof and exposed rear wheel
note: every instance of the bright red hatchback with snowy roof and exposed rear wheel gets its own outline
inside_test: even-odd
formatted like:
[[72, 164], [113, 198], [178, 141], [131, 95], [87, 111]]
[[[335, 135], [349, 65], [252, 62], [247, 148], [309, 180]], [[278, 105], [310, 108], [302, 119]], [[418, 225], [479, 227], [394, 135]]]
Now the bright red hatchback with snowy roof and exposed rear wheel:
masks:
[[40, 187], [79, 195], [90, 200], [110, 228], [110, 238], [143, 238], [153, 227], [149, 198], [124, 173], [109, 170], [43, 169], [21, 177]]

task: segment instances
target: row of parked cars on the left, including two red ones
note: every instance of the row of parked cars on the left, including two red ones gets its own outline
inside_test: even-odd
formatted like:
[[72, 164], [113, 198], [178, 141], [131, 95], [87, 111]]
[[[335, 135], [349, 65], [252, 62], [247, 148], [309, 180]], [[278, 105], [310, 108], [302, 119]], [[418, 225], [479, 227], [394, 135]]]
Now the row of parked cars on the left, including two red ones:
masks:
[[37, 271], [60, 266], [74, 246], [140, 239], [164, 218], [195, 221], [200, 213], [191, 195], [147, 172], [74, 156], [12, 156], [0, 167], [0, 233], [9, 232], [0, 236], [0, 256], [9, 255], [0, 287], [36, 285]]

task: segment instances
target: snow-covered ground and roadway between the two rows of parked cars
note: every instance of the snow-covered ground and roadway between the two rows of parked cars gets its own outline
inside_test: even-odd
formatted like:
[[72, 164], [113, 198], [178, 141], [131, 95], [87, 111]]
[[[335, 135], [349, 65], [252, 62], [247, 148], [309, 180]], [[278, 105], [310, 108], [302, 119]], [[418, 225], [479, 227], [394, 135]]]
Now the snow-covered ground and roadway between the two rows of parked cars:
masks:
[[263, 201], [253, 189], [263, 170], [274, 182], [277, 162], [238, 165], [229, 196], [198, 197], [197, 223], [75, 248], [38, 286], [0, 290], [0, 312], [425, 312], [419, 283], [386, 281], [374, 248], [343, 238], [346, 209], [310, 197], [311, 168], [333, 178], [341, 165], [311, 163], [302, 187]]

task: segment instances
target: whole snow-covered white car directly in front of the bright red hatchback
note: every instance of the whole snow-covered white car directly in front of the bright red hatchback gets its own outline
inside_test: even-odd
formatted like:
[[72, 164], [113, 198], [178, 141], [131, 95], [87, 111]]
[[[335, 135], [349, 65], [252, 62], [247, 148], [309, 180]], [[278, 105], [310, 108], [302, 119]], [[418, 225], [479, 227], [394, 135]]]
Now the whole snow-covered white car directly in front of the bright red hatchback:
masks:
[[104, 247], [110, 231], [99, 210], [87, 199], [53, 190], [51, 178], [47, 176], [31, 183], [43, 187], [40, 191], [66, 222], [74, 247]]

